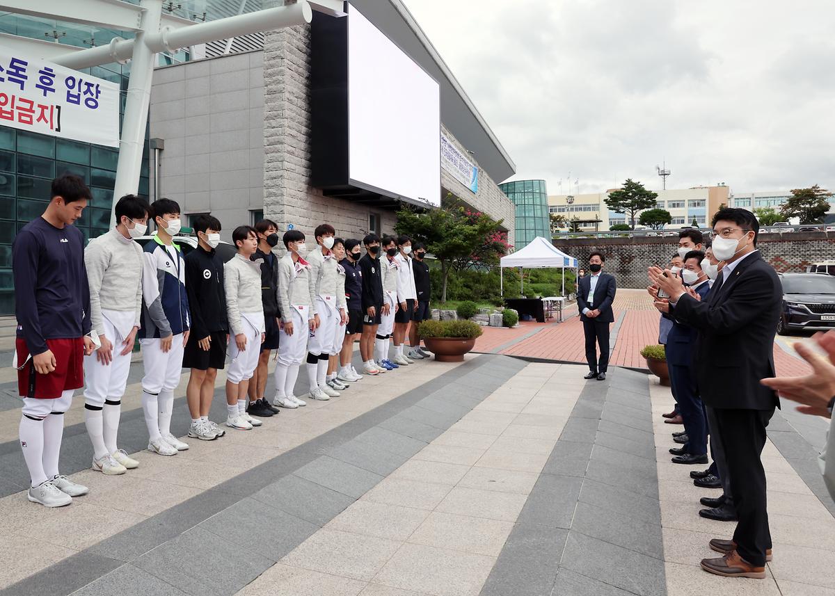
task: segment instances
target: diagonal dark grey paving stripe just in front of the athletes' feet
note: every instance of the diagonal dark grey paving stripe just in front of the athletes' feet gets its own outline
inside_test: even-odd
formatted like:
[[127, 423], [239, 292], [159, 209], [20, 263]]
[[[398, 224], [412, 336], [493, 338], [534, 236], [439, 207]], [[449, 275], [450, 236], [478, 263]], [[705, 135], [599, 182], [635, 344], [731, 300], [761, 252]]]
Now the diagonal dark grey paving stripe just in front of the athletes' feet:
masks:
[[[453, 426], [458, 414], [446, 402], [472, 409], [525, 366], [505, 356], [477, 356], [0, 595], [90, 596], [114, 593], [114, 586], [119, 593], [235, 593], [375, 486], [384, 477], [378, 472]], [[437, 412], [445, 407], [447, 416]], [[360, 454], [370, 457], [360, 462]]]

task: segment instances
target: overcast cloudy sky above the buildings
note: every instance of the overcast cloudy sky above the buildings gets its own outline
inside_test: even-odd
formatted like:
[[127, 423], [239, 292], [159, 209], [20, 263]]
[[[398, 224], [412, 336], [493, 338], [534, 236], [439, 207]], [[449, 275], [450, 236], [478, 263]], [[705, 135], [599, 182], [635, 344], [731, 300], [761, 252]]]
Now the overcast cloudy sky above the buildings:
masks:
[[660, 189], [665, 159], [671, 189], [835, 187], [830, 0], [404, 2], [512, 179]]

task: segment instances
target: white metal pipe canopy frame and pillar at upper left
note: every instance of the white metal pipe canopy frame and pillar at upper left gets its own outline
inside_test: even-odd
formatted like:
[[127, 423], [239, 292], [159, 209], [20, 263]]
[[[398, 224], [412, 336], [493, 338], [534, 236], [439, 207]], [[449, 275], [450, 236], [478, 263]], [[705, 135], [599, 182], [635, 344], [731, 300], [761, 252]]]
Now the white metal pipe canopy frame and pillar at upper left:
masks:
[[116, 198], [139, 191], [157, 53], [172, 53], [200, 43], [310, 23], [314, 10], [342, 17], [345, 16], [343, 9], [342, 0], [286, 0], [282, 6], [275, 8], [195, 22], [164, 14], [163, 0], [140, 0], [138, 5], [122, 0], [38, 0], [37, 3], [32, 0], [0, 0], [0, 11], [8, 13], [134, 32], [133, 39], [115, 37], [109, 43], [87, 49], [7, 33], [0, 34], [0, 45], [73, 69], [131, 61], [119, 139], [114, 205], [110, 214], [110, 223], [114, 225]]

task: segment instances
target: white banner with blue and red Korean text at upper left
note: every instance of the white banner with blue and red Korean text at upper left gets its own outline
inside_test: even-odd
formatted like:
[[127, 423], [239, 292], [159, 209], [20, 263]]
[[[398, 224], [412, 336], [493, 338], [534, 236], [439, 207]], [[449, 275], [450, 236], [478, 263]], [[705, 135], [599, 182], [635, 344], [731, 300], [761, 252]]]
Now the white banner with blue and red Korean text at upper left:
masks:
[[119, 85], [0, 47], [0, 126], [119, 147]]

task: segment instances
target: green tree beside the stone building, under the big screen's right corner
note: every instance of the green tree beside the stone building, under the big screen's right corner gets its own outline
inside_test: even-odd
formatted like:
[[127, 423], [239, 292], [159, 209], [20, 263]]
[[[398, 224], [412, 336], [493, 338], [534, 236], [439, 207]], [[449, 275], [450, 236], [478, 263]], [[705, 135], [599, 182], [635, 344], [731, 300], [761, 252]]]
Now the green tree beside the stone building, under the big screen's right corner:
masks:
[[447, 301], [449, 274], [473, 266], [497, 265], [511, 246], [501, 229], [503, 220], [471, 211], [458, 205], [448, 195], [445, 205], [419, 213], [403, 206], [397, 212], [397, 234], [411, 236], [426, 245], [441, 264], [441, 301]]

